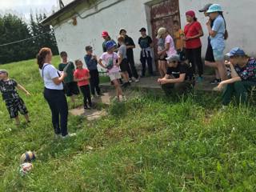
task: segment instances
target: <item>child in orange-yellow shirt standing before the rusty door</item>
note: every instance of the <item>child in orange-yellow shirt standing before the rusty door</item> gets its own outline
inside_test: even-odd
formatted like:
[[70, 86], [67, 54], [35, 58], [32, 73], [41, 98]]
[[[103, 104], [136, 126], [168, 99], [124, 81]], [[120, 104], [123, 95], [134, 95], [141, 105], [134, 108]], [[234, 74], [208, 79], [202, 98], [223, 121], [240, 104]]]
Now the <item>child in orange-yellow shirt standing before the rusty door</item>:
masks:
[[184, 31], [179, 27], [178, 21], [174, 21], [174, 43], [175, 48], [181, 58], [185, 57], [185, 42], [183, 41], [184, 37]]

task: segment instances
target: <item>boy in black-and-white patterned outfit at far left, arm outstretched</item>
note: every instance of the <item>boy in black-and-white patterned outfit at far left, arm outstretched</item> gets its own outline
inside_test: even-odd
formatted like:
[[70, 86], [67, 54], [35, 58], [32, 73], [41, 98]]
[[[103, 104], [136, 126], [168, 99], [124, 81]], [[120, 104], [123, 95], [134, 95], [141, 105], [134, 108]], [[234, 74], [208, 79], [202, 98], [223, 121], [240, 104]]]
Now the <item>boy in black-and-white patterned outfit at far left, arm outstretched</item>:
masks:
[[25, 103], [22, 98], [19, 97], [16, 87], [22, 90], [26, 95], [30, 95], [30, 93], [14, 79], [8, 78], [8, 72], [6, 70], [0, 70], [0, 91], [2, 93], [2, 99], [6, 102], [6, 108], [9, 111], [10, 118], [15, 118], [16, 125], [18, 126], [20, 124], [18, 111], [24, 115], [26, 122], [30, 122], [30, 118]]

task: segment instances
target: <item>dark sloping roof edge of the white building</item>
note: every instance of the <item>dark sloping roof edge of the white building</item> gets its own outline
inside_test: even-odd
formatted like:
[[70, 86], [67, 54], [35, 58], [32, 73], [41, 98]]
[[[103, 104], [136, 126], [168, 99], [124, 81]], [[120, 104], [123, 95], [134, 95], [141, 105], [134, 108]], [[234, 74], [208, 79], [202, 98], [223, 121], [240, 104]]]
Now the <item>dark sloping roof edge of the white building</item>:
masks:
[[62, 14], [74, 9], [74, 7], [78, 6], [82, 2], [88, 2], [88, 0], [74, 0], [73, 2], [70, 2], [66, 6], [64, 6], [61, 10], [58, 10], [54, 14], [51, 14], [48, 18], [45, 18], [42, 20], [42, 25], [49, 25], [51, 21], [59, 18]]

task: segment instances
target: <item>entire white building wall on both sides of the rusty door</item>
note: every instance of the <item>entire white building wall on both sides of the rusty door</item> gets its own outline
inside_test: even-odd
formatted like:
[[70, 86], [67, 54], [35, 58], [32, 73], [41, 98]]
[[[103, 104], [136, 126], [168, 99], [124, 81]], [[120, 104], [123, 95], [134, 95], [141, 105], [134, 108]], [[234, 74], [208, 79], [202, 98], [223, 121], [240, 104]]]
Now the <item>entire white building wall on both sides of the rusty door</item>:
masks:
[[[99, 0], [100, 1], [100, 0]], [[254, 25], [255, 18], [255, 0], [215, 0], [220, 3], [225, 10], [227, 28], [230, 34], [226, 41], [226, 51], [231, 47], [241, 46], [248, 54], [256, 55], [256, 25]], [[100, 56], [102, 54], [101, 37], [102, 30], [107, 30], [111, 38], [115, 40], [118, 38], [118, 31], [124, 27], [127, 34], [134, 39], [136, 49], [134, 49], [135, 62], [139, 64], [140, 49], [138, 48], [138, 38], [140, 33], [138, 30], [144, 26], [150, 29], [150, 10], [145, 5], [147, 2], [159, 2], [158, 0], [124, 0], [118, 2], [114, 6], [101, 10], [103, 7], [118, 2], [118, 0], [102, 0], [96, 8], [90, 10], [82, 10], [79, 13], [82, 17], [92, 14], [86, 19], [77, 18], [78, 25], [73, 26], [70, 20], [62, 21], [58, 26], [54, 26], [55, 35], [60, 51], [66, 50], [71, 60], [77, 58], [82, 59], [85, 54], [85, 46], [91, 45], [94, 47], [94, 53]], [[202, 8], [207, 0], [179, 0], [182, 27], [186, 24], [186, 17], [184, 13], [186, 10], [196, 10], [198, 21], [202, 23], [205, 36], [202, 38], [202, 56], [205, 55], [207, 45], [207, 19], [203, 14], [197, 10]], [[95, 11], [101, 10], [98, 14], [93, 14]]]

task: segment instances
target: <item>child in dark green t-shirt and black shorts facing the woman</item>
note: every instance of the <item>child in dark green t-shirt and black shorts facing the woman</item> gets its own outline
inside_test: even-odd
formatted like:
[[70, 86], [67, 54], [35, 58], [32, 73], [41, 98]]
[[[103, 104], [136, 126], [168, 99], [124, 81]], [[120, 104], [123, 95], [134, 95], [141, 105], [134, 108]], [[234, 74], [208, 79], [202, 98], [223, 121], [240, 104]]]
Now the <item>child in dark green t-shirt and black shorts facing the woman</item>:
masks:
[[58, 65], [58, 70], [65, 71], [67, 76], [64, 78], [64, 90], [67, 97], [71, 97], [74, 103], [74, 96], [79, 94], [78, 83], [74, 82], [74, 63], [67, 61], [66, 51], [61, 52], [62, 63]]

